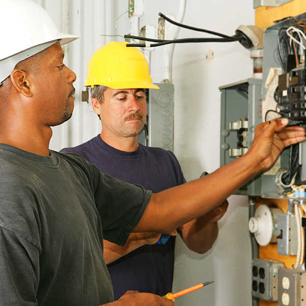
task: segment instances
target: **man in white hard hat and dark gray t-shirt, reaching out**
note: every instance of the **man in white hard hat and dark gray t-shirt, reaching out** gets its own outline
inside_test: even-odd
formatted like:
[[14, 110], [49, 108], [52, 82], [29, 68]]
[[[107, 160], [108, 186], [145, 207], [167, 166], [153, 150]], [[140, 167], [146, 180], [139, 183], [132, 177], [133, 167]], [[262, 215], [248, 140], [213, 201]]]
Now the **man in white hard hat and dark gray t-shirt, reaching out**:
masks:
[[304, 129], [286, 127], [287, 119], [263, 123], [243, 157], [152, 194], [101, 173], [78, 155], [48, 149], [50, 126], [67, 120], [73, 109], [75, 74], [63, 64], [64, 37], [52, 34], [52, 27], [47, 31], [49, 17], [30, 0], [0, 0], [0, 14], [2, 29], [18, 18], [1, 49], [31, 32], [33, 20], [41, 33], [30, 41], [47, 39], [24, 42], [17, 52], [55, 39], [13, 70], [3, 63], [14, 60], [15, 50], [0, 57], [0, 305], [174, 305], [135, 291], [113, 302], [103, 238], [124, 246], [133, 231], [171, 233], [271, 167], [285, 146], [305, 140]]

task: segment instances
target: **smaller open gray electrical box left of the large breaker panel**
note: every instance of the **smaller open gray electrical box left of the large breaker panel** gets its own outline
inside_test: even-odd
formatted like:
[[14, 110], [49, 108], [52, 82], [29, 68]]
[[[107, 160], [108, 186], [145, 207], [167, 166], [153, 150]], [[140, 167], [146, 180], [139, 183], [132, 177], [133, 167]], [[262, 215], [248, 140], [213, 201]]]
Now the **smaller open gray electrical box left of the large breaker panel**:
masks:
[[[255, 127], [262, 122], [262, 80], [219, 87], [221, 91], [220, 166], [245, 154], [251, 146]], [[261, 195], [261, 177], [255, 177], [235, 194]]]

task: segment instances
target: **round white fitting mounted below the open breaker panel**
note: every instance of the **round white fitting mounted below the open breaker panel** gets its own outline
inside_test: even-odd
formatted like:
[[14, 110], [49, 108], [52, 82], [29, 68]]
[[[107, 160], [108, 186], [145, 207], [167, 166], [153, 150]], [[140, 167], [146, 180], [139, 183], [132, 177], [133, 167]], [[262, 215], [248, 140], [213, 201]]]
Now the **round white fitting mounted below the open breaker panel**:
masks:
[[258, 207], [254, 217], [250, 218], [249, 230], [260, 245], [265, 246], [271, 242], [272, 237], [276, 237], [277, 216], [280, 213], [283, 213], [281, 209], [269, 208], [263, 204]]

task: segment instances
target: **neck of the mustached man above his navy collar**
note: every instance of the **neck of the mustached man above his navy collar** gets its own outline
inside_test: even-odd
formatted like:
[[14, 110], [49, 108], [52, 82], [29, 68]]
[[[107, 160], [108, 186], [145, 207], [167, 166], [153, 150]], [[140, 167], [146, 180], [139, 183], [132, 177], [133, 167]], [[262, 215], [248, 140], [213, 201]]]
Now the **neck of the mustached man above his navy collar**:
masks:
[[139, 146], [138, 135], [130, 137], [116, 137], [114, 135], [110, 136], [102, 131], [100, 137], [105, 143], [120, 151], [133, 152], [136, 151]]

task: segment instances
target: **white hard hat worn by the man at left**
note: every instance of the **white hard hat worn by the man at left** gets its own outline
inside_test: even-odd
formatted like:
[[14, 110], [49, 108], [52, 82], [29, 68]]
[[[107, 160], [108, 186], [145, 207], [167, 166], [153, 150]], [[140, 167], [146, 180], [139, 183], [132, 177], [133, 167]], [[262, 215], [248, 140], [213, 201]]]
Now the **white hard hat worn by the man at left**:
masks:
[[31, 0], [0, 0], [0, 29], [0, 82], [18, 62], [58, 41], [63, 45], [80, 38], [60, 33], [47, 12]]

